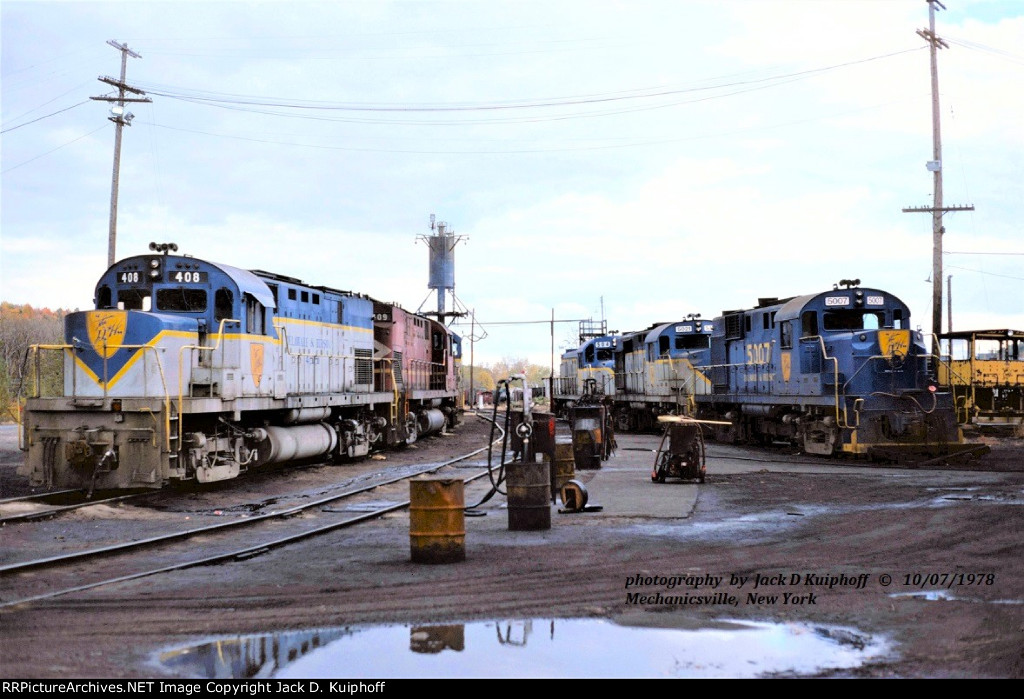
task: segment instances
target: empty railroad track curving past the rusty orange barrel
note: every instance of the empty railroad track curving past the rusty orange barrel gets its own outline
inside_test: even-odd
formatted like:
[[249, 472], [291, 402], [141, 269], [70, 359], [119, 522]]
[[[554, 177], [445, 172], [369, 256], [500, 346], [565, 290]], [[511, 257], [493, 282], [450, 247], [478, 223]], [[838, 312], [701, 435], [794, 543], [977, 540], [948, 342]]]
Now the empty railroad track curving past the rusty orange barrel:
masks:
[[[488, 446], [483, 446], [444, 462], [407, 470], [399, 476], [379, 474], [380, 477], [372, 478], [362, 485], [258, 515], [233, 518], [212, 525], [189, 527], [173, 532], [163, 532], [109, 545], [9, 562], [0, 565], [0, 611], [173, 570], [245, 560], [272, 549], [377, 519], [388, 513], [408, 508], [410, 501], [401, 499], [380, 503], [369, 499], [368, 494], [424, 474], [438, 472], [461, 462], [467, 462], [487, 450]], [[470, 483], [490, 473], [489, 466], [480, 467], [479, 471], [462, 480]], [[338, 507], [339, 504], [342, 506], [347, 504], [349, 507]], [[296, 516], [311, 511], [315, 511], [314, 517], [321, 520], [319, 522], [309, 526], [305, 518], [301, 521], [297, 520]], [[353, 511], [356, 514], [352, 514]], [[290, 522], [290, 520], [296, 520], [297, 523]], [[271, 521], [284, 524], [274, 524], [269, 527], [272, 530], [269, 533], [258, 531], [255, 534], [252, 532], [241, 533], [242, 530], [257, 529], [260, 524]], [[202, 538], [200, 548], [189, 545], [189, 539], [198, 538]], [[242, 544], [239, 543], [240, 539], [245, 539]], [[134, 560], [139, 557], [130, 556], [130, 554], [138, 554], [143, 551], [148, 551], [152, 555], [146, 556], [144, 560]], [[111, 562], [113, 557], [117, 557], [116, 565]], [[115, 567], [123, 571], [123, 574], [110, 576], [110, 570]], [[45, 576], [40, 574], [43, 569], [48, 569], [48, 574]], [[26, 587], [33, 589], [44, 587], [46, 589], [42, 593], [27, 595]]]

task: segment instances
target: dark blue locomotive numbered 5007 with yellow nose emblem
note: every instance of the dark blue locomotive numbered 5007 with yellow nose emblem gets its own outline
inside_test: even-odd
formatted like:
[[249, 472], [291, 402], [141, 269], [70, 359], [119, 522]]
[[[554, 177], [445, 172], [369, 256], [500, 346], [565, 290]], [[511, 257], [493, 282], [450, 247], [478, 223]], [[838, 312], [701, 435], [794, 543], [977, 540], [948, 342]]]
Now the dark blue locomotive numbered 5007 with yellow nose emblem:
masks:
[[718, 438], [896, 461], [962, 450], [952, 397], [937, 389], [909, 308], [859, 283], [716, 319], [712, 391], [695, 400], [700, 418], [731, 423]]

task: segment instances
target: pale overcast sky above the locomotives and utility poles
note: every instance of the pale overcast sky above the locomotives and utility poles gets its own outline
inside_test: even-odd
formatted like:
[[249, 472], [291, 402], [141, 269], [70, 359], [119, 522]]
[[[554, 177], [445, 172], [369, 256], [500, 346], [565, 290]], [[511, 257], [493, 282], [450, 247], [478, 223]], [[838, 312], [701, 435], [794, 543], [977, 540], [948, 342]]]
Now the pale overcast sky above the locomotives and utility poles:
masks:
[[[975, 207], [945, 217], [953, 329], [1024, 329], [1024, 3], [944, 4], [943, 203]], [[931, 330], [932, 220], [902, 211], [933, 201], [924, 0], [3, 0], [0, 23], [4, 301], [91, 307], [113, 40], [153, 99], [128, 107], [118, 258], [174, 242], [435, 310], [435, 214], [476, 363], [548, 365], [552, 313], [557, 363], [579, 318], [854, 277]]]

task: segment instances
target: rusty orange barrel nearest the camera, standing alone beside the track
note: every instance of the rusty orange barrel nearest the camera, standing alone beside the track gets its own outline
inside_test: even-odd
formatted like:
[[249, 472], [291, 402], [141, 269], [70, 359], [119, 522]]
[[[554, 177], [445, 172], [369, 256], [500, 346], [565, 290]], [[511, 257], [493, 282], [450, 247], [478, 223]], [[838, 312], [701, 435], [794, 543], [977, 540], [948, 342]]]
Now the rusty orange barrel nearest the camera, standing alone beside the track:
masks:
[[463, 482], [415, 478], [409, 482], [409, 542], [414, 563], [466, 560]]

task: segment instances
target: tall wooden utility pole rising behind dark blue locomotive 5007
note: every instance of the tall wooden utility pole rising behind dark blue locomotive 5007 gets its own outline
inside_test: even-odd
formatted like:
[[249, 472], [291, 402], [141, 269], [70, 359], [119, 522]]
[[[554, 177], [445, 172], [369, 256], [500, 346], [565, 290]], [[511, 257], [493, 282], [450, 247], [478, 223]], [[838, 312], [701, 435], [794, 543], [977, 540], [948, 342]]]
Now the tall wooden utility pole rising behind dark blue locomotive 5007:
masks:
[[935, 34], [935, 6], [945, 9], [939, 0], [928, 0], [928, 29], [918, 30], [918, 36], [928, 42], [932, 59], [932, 160], [926, 167], [932, 173], [934, 195], [930, 207], [910, 207], [903, 213], [932, 214], [932, 333], [935, 336], [933, 345], [936, 354], [939, 353], [938, 335], [942, 332], [942, 234], [946, 232], [942, 225], [942, 215], [947, 211], [974, 211], [973, 206], [942, 206], [942, 136], [939, 130], [939, 60], [938, 49], [949, 48], [949, 44]]

